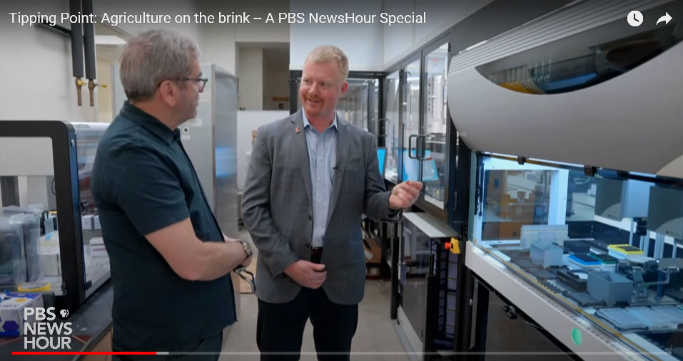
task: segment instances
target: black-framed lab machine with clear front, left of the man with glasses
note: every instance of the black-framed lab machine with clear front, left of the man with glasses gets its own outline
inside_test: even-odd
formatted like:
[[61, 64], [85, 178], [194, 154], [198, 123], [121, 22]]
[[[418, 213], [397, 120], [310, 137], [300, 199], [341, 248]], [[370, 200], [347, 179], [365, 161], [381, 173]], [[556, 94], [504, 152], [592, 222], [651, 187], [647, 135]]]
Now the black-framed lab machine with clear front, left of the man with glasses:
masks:
[[107, 123], [0, 121], [0, 291], [76, 312], [108, 281], [90, 174]]

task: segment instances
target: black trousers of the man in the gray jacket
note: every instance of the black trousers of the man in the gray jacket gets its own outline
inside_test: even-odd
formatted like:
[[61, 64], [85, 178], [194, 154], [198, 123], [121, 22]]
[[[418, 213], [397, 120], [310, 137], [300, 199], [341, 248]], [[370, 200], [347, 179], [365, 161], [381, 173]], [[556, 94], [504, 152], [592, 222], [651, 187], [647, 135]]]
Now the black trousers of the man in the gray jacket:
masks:
[[288, 303], [258, 300], [256, 345], [261, 361], [296, 361], [310, 318], [319, 361], [349, 361], [358, 327], [358, 305], [333, 303], [323, 288], [301, 288]]

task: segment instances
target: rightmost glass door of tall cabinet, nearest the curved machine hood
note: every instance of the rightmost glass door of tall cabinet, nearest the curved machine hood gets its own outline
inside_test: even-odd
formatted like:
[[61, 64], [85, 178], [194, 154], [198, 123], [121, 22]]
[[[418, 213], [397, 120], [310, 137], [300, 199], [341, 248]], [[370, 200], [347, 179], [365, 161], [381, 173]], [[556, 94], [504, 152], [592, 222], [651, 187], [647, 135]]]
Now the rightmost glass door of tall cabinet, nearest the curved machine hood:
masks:
[[425, 201], [445, 209], [447, 182], [447, 127], [446, 80], [448, 73], [448, 43], [444, 43], [424, 57], [423, 122], [424, 135], [422, 182]]

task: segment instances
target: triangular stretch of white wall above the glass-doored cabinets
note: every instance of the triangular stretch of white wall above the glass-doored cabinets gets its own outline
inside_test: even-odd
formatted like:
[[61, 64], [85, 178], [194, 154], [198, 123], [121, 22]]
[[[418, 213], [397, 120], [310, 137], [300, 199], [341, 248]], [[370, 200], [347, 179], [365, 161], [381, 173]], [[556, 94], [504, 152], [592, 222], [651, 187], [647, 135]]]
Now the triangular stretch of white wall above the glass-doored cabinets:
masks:
[[[426, 14], [425, 23], [383, 24], [383, 66], [393, 66], [493, 0], [383, 0], [388, 14]], [[522, 3], [523, 4], [523, 1]], [[522, 5], [520, 5], [522, 6]]]

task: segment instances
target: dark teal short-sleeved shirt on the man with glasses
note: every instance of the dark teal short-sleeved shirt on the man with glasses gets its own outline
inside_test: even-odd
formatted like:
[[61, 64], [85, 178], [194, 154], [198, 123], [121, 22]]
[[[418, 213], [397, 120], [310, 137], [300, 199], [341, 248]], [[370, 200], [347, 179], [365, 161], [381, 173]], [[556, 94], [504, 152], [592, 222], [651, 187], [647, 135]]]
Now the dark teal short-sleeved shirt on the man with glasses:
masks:
[[91, 190], [111, 263], [113, 346], [173, 351], [236, 322], [230, 275], [186, 281], [145, 234], [187, 219], [223, 242], [178, 130], [126, 102], [101, 138]]

